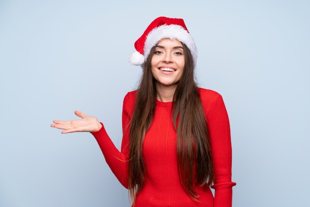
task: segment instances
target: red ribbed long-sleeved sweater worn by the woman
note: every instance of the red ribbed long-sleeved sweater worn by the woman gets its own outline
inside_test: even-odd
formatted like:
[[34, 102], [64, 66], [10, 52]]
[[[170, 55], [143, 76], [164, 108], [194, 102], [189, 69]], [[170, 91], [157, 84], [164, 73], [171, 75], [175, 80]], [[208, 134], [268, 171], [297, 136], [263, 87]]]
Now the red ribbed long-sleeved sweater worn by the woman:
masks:
[[[143, 156], [146, 164], [145, 185], [137, 195], [135, 207], [231, 207], [231, 141], [226, 108], [222, 97], [211, 90], [199, 88], [207, 117], [214, 164], [215, 195], [209, 188], [196, 186], [199, 202], [183, 190], [178, 176], [176, 131], [171, 120], [171, 102], [156, 101], [154, 120], [147, 131]], [[121, 152], [112, 143], [104, 127], [92, 134], [105, 160], [121, 184], [128, 188], [129, 127], [136, 91], [129, 92], [123, 103], [123, 140]]]

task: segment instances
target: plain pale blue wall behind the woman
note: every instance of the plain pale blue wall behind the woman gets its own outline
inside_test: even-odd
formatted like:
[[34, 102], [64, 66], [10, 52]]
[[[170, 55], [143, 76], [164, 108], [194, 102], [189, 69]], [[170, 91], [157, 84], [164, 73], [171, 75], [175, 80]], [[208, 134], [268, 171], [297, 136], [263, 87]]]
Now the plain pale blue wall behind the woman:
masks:
[[127, 58], [158, 16], [183, 18], [201, 87], [231, 122], [234, 207], [310, 206], [308, 0], [0, 0], [0, 207], [124, 207], [89, 133], [54, 119], [96, 115], [121, 144]]

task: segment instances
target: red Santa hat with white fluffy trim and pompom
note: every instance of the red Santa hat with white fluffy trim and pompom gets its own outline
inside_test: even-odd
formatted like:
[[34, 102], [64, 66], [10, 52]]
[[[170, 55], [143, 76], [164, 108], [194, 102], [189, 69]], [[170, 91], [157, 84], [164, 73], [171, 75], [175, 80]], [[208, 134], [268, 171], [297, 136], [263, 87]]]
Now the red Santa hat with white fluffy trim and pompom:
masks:
[[186, 45], [196, 65], [197, 48], [184, 20], [167, 17], [158, 17], [148, 26], [143, 35], [135, 42], [136, 51], [129, 56], [129, 62], [133, 65], [142, 65], [147, 60], [152, 48], [164, 38], [176, 39]]

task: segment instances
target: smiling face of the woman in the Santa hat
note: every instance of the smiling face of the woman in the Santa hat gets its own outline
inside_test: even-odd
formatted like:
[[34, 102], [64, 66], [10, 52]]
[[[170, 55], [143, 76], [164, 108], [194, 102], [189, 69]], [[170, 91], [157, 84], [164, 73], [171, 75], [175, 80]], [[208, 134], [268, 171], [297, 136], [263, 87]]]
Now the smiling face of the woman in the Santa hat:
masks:
[[162, 39], [157, 46], [151, 60], [152, 75], [156, 88], [175, 87], [182, 77], [185, 56], [182, 44], [178, 40]]

